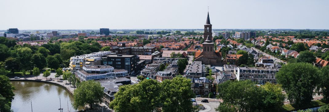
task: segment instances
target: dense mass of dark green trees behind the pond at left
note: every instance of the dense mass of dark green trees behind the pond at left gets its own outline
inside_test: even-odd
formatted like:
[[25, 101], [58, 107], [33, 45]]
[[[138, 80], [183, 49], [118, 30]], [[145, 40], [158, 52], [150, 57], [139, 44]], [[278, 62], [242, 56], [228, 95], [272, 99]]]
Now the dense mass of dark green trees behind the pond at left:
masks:
[[16, 45], [15, 40], [0, 37], [0, 74], [6, 75], [9, 71], [14, 72], [30, 71], [38, 69], [68, 66], [71, 56], [98, 52], [101, 45], [96, 41], [79, 39], [68, 42], [48, 42], [41, 46], [31, 46], [29, 44]]

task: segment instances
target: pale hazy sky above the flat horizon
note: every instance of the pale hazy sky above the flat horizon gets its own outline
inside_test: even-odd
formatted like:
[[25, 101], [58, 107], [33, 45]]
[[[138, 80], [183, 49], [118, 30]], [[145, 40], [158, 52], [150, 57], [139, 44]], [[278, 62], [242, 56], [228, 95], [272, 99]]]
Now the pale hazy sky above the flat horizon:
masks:
[[329, 0], [1, 0], [0, 30], [329, 29]]

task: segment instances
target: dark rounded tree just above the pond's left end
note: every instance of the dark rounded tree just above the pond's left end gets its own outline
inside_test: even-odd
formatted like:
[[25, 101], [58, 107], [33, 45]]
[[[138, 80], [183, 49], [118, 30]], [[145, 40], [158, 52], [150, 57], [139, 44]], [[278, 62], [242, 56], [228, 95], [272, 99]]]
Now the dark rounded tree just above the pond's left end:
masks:
[[19, 60], [17, 58], [14, 57], [8, 57], [5, 60], [5, 66], [6, 66], [6, 70], [10, 70], [12, 71], [12, 73], [14, 74], [14, 72], [19, 70]]

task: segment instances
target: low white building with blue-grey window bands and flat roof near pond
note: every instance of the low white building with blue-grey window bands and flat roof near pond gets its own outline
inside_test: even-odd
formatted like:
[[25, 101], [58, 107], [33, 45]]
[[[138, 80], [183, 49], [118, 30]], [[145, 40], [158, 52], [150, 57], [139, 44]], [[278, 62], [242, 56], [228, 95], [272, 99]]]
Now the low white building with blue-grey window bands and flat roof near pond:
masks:
[[74, 73], [80, 81], [128, 76], [127, 70], [114, 69], [112, 66], [84, 66], [82, 69]]

